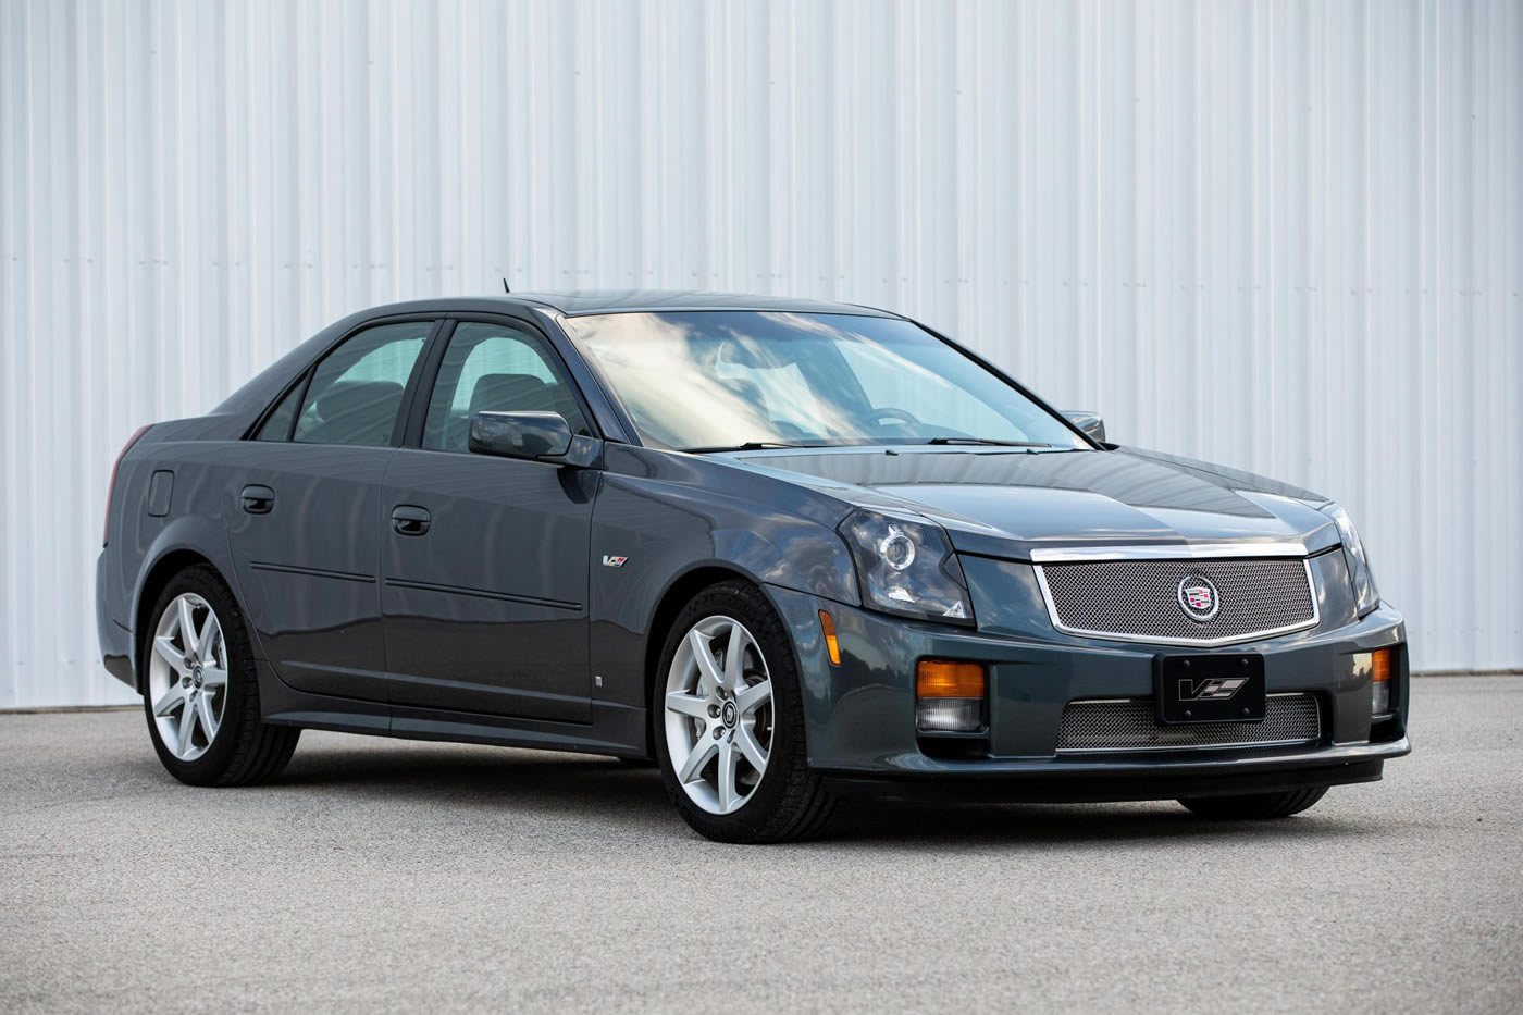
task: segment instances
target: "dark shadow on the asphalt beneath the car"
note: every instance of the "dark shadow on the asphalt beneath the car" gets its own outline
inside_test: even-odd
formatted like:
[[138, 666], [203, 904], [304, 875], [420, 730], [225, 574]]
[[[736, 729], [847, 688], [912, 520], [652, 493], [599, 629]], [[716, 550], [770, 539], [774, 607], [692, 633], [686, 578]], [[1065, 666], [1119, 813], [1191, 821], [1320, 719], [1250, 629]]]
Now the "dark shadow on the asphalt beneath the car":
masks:
[[[334, 789], [347, 797], [410, 800], [445, 808], [513, 808], [694, 837], [667, 800], [655, 768], [609, 757], [411, 744], [405, 750], [323, 747], [303, 756], [271, 791]], [[1327, 806], [1327, 805], [1322, 805]], [[1279, 821], [1206, 821], [1162, 803], [903, 803], [845, 800], [824, 835], [803, 849], [931, 850], [1232, 838], [1253, 829], [1276, 841], [1362, 834], [1336, 811]]]

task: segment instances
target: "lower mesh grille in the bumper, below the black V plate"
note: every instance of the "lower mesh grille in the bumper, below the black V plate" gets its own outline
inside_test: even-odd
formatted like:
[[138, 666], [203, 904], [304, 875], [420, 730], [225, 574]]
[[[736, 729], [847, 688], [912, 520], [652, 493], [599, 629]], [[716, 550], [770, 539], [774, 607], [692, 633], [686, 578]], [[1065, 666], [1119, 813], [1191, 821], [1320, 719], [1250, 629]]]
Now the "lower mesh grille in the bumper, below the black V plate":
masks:
[[1058, 753], [1150, 751], [1191, 747], [1266, 747], [1322, 738], [1322, 710], [1304, 692], [1269, 695], [1263, 722], [1164, 725], [1151, 698], [1069, 701], [1057, 732]]

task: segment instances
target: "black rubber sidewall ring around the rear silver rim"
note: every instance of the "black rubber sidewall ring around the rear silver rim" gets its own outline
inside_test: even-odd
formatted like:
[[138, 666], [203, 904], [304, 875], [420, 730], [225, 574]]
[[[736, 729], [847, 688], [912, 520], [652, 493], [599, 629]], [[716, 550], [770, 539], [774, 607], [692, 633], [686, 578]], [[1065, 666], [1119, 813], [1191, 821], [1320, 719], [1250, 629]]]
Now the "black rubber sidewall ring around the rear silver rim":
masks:
[[[227, 651], [227, 698], [222, 706], [222, 722], [218, 735], [201, 757], [186, 762], [174, 756], [158, 736], [158, 724], [154, 721], [152, 689], [148, 686], [148, 666], [154, 654], [154, 632], [164, 610], [177, 596], [193, 593], [206, 599], [216, 613], [222, 628], [222, 642]], [[139, 672], [143, 674], [143, 715], [148, 719], [148, 736], [154, 742], [154, 751], [164, 768], [178, 779], [195, 786], [213, 786], [222, 780], [238, 754], [239, 741], [244, 739], [244, 727], [259, 722], [259, 693], [254, 686], [253, 651], [248, 643], [248, 631], [244, 626], [244, 613], [238, 608], [227, 582], [212, 567], [196, 565], [175, 575], [158, 594], [152, 611], [148, 614], [149, 628], [143, 637]]]

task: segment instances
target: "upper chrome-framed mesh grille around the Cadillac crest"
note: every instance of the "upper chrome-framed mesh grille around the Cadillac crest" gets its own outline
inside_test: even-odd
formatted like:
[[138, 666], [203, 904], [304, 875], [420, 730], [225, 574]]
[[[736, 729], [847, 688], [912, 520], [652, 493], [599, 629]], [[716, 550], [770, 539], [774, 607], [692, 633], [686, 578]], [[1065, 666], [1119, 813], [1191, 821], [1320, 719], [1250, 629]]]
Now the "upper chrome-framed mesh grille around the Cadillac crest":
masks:
[[[1316, 622], [1311, 581], [1299, 558], [1094, 561], [1046, 564], [1054, 623], [1062, 631], [1156, 642], [1223, 643]], [[1217, 616], [1197, 622], [1179, 605], [1179, 581], [1205, 575]]]

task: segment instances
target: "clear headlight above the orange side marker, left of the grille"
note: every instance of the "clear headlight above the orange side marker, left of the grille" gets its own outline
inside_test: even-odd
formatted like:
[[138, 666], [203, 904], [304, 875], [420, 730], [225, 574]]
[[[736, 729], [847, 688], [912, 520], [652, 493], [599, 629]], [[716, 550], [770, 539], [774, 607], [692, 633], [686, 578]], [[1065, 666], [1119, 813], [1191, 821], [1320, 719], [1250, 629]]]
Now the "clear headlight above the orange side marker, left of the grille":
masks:
[[862, 600], [903, 617], [973, 623], [967, 579], [940, 526], [859, 509], [841, 523]]

